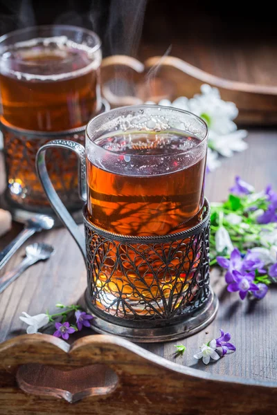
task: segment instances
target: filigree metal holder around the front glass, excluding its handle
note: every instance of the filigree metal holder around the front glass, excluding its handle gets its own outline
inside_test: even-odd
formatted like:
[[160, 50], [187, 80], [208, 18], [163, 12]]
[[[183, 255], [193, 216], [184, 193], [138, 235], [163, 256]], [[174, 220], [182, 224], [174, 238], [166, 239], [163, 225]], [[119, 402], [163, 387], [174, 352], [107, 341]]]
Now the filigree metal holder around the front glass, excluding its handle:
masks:
[[192, 335], [217, 312], [209, 286], [209, 219], [164, 237], [126, 237], [93, 225], [84, 210], [93, 329], [137, 342]]

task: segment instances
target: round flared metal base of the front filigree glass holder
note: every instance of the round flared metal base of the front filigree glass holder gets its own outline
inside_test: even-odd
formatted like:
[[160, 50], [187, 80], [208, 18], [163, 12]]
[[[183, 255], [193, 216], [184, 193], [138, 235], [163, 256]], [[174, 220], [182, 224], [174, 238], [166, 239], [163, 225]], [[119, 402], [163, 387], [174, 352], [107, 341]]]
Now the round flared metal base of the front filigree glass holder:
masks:
[[[164, 327], [149, 327], [145, 329], [140, 327], [126, 327], [104, 320], [102, 317], [96, 315], [94, 309], [91, 308], [87, 291], [84, 297], [87, 311], [94, 317], [91, 323], [91, 329], [97, 333], [118, 335], [126, 340], [138, 343], [170, 342], [172, 340], [184, 339], [198, 333], [198, 331], [201, 331], [213, 321], [219, 305], [216, 295], [211, 291], [203, 306], [193, 311], [193, 313], [184, 315], [183, 320], [178, 320], [176, 324], [166, 325]], [[134, 326], [135, 324], [134, 322]]]

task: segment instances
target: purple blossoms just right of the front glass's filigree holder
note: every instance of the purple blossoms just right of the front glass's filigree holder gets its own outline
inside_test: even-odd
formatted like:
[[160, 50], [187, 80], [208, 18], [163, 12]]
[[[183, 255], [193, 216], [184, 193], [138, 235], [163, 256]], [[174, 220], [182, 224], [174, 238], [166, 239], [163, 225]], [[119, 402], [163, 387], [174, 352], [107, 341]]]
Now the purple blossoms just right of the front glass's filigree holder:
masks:
[[233, 270], [237, 271], [254, 271], [258, 269], [259, 273], [266, 273], [262, 269], [264, 263], [258, 259], [258, 256], [253, 252], [249, 251], [247, 255], [242, 259], [242, 255], [238, 248], [235, 248], [230, 255], [230, 259], [224, 257], [217, 257], [217, 263], [222, 267], [226, 268], [228, 271], [225, 275], [225, 280], [227, 284], [230, 284], [234, 281], [233, 279]]

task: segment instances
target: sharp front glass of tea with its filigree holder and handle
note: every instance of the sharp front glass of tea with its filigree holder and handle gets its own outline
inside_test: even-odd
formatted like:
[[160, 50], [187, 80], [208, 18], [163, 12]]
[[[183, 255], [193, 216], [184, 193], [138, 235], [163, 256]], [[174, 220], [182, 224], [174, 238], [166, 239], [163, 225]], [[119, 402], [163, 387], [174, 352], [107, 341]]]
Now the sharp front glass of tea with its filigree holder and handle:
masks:
[[[159, 330], [167, 324], [173, 337], [162, 338], [172, 340], [184, 337], [191, 313], [197, 311], [198, 320], [194, 331], [188, 324], [190, 333], [214, 317], [204, 200], [207, 136], [206, 123], [192, 113], [141, 105], [91, 120], [86, 149], [61, 140], [39, 149], [42, 186], [84, 255], [87, 308], [97, 317], [97, 331], [148, 341], [157, 330], [161, 340]], [[46, 150], [56, 147], [79, 157], [85, 241], [48, 177]], [[134, 334], [139, 327], [143, 334]]]

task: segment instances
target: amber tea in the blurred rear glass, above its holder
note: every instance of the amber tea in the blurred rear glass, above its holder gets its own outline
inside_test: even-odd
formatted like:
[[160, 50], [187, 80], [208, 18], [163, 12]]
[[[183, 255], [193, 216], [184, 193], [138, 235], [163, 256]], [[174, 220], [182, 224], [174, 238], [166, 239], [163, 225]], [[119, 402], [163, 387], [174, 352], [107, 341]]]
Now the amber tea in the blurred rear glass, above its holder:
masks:
[[66, 36], [30, 39], [1, 53], [1, 118], [35, 131], [81, 127], [100, 105], [100, 51]]

